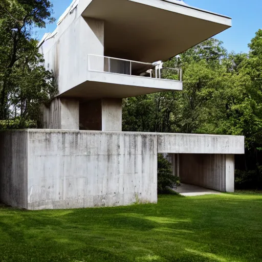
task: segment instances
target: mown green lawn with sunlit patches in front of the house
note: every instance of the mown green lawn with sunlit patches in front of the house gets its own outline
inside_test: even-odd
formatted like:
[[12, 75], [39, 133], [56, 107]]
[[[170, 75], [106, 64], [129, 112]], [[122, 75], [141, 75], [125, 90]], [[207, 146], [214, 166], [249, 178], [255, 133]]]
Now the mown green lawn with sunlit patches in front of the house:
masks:
[[262, 261], [262, 195], [76, 210], [0, 208], [0, 261]]

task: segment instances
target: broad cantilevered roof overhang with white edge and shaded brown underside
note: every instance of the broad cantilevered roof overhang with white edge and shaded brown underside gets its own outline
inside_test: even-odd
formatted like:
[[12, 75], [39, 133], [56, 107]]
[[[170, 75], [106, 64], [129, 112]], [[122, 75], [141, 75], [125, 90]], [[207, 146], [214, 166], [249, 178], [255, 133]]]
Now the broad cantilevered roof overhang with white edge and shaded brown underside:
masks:
[[93, 0], [82, 16], [104, 20], [107, 56], [167, 60], [231, 27], [231, 18], [172, 0]]

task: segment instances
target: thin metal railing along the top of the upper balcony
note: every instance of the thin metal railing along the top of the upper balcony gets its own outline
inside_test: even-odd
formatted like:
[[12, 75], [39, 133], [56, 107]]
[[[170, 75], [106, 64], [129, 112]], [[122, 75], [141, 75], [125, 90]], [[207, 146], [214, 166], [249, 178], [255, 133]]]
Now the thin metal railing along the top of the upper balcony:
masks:
[[88, 70], [130, 76], [182, 81], [182, 69], [165, 68], [163, 62], [145, 63], [115, 57], [88, 55]]

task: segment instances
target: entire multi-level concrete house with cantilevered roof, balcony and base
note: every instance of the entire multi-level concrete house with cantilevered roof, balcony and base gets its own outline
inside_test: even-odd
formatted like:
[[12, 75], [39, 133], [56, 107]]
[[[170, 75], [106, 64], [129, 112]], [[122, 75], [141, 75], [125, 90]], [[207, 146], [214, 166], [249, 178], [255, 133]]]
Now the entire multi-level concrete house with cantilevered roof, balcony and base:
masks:
[[[178, 0], [75, 0], [39, 42], [59, 94], [45, 129], [0, 133], [0, 201], [26, 209], [157, 202], [157, 154], [182, 182], [234, 191], [244, 137], [122, 132], [122, 99], [183, 90], [161, 61], [231, 27]], [[156, 62], [158, 61], [158, 62]]]

